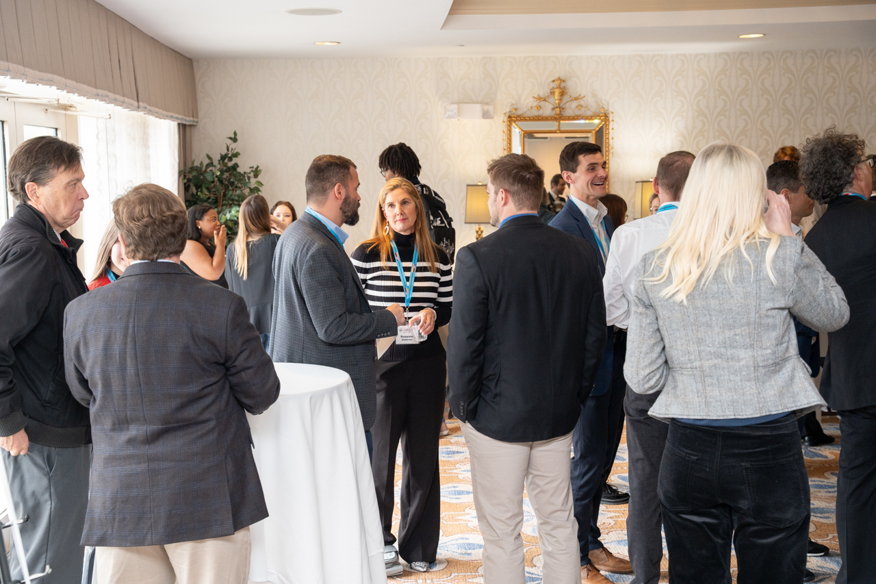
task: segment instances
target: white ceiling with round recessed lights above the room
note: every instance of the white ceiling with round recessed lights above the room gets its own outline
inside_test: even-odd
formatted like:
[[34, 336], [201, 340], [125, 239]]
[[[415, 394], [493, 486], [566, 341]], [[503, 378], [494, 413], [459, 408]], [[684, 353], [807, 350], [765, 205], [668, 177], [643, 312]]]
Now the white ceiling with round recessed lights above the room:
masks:
[[[448, 16], [452, 0], [98, 2], [192, 59], [710, 53], [876, 46], [876, 4]], [[305, 17], [285, 12], [300, 8], [334, 8], [342, 13]], [[748, 32], [767, 36], [738, 39]], [[314, 46], [321, 40], [342, 44]]]

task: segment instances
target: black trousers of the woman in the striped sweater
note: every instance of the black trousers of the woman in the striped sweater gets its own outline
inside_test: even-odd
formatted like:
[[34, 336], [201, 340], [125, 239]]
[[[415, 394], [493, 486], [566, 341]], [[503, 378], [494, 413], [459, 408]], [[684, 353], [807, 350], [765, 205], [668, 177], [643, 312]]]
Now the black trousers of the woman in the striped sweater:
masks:
[[371, 472], [378, 495], [384, 543], [394, 544], [395, 456], [401, 440], [399, 555], [434, 562], [441, 526], [438, 433], [444, 415], [446, 357], [378, 361], [377, 417], [371, 426]]

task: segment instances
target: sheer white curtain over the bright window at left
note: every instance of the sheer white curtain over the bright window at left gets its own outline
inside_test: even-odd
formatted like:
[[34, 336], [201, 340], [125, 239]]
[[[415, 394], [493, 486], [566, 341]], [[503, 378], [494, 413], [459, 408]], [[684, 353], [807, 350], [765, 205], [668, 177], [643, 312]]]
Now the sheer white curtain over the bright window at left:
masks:
[[79, 118], [79, 145], [88, 200], [82, 212], [86, 280], [97, 259], [103, 231], [112, 219], [117, 196], [144, 182], [173, 193], [178, 188], [179, 146], [176, 123], [106, 105], [111, 118]]

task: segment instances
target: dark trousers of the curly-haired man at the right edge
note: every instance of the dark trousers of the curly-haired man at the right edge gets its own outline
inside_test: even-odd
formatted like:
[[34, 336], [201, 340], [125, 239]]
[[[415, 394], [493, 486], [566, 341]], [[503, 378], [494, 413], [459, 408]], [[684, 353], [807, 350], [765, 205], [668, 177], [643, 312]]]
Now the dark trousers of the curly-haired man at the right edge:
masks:
[[837, 584], [876, 580], [876, 406], [837, 412], [842, 447], [837, 478]]

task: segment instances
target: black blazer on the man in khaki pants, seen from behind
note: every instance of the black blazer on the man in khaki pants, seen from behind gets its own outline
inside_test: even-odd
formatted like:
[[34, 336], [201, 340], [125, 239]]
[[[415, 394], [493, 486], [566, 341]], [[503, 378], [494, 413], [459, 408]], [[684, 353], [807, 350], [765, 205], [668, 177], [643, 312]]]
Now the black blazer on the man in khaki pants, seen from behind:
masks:
[[505, 442], [568, 434], [605, 344], [596, 254], [536, 216], [515, 217], [456, 253], [449, 402]]

